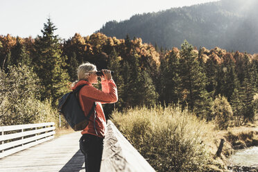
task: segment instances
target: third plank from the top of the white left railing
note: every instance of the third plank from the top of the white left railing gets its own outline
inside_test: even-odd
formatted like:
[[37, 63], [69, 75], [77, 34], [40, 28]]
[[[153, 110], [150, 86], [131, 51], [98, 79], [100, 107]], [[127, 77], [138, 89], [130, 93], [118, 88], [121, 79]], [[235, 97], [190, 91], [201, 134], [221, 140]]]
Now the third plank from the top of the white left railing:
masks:
[[17, 141], [12, 141], [10, 143], [6, 143], [6, 144], [1, 144], [0, 145], [0, 150], [4, 150], [6, 148], [11, 148], [13, 146], [19, 146], [21, 144], [26, 144], [28, 142], [31, 142], [31, 141], [35, 141], [37, 139], [42, 139], [44, 137], [49, 137], [51, 135], [55, 135], [55, 131], [52, 131], [52, 132], [46, 132], [42, 135], [36, 135], [36, 136], [33, 136], [33, 137], [28, 137], [26, 139], [19, 139]]

